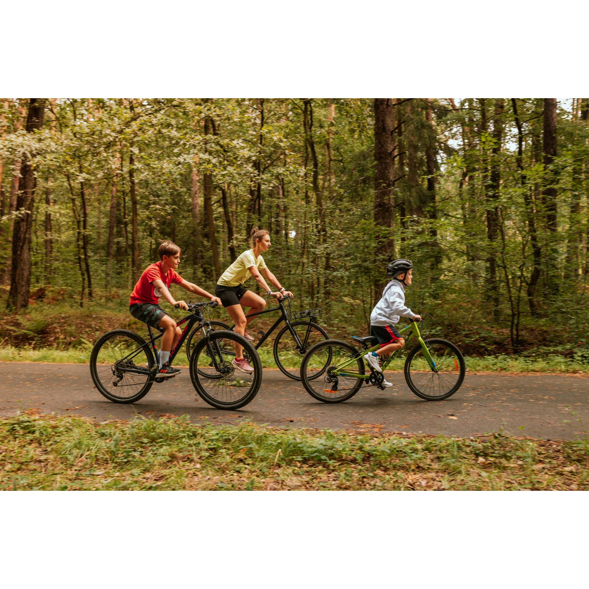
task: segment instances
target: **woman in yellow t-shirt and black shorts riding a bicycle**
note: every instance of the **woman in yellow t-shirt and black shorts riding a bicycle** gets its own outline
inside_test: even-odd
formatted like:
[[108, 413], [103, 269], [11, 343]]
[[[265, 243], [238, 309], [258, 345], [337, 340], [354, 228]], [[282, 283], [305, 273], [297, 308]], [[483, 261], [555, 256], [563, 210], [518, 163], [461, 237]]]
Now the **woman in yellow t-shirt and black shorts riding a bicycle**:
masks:
[[[234, 330], [240, 333], [246, 339], [253, 340], [254, 338], [246, 332], [247, 325], [252, 322], [254, 317], [247, 317], [243, 312], [244, 307], [250, 307], [253, 313], [259, 313], [266, 307], [266, 301], [262, 297], [247, 290], [243, 287], [243, 283], [253, 276], [254, 280], [266, 291], [267, 294], [276, 299], [282, 299], [283, 296], [293, 296], [288, 290], [280, 286], [276, 276], [270, 272], [264, 259], [262, 252], [267, 252], [270, 247], [270, 234], [265, 229], [257, 229], [254, 227], [250, 233], [252, 239], [252, 249], [246, 250], [241, 256], [223, 272], [220, 279], [217, 281], [215, 287], [215, 295], [221, 299], [221, 303], [229, 313], [231, 319], [235, 323]], [[276, 286], [276, 292], [272, 292], [266, 280], [263, 279], [262, 274]], [[241, 372], [253, 372], [253, 368], [249, 365], [247, 360], [243, 358], [243, 350], [239, 344], [235, 345], [235, 359], [232, 362], [234, 368], [241, 370]]]

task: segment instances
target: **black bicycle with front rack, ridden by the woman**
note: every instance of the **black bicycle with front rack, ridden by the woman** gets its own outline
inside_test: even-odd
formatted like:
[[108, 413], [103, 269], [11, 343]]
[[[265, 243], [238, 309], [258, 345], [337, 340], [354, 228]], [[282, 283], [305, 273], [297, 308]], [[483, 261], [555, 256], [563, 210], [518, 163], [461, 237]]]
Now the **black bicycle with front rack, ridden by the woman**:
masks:
[[[284, 325], [274, 340], [274, 362], [276, 362], [278, 368], [286, 376], [293, 380], [300, 380], [300, 363], [303, 360], [303, 356], [305, 356], [311, 346], [329, 339], [329, 335], [327, 335], [323, 327], [315, 322], [315, 317], [321, 315], [323, 309], [306, 309], [299, 313], [293, 313], [290, 310], [291, 300], [292, 298], [290, 296], [284, 296], [278, 300], [277, 307], [264, 309], [259, 313], [250, 313], [246, 317], [255, 317], [256, 315], [264, 315], [264, 313], [280, 311], [280, 317], [276, 319], [266, 333], [261, 329], [257, 332], [261, 337], [254, 347], [257, 350], [272, 335], [280, 323], [284, 321], [286, 325]], [[286, 301], [288, 301], [287, 307], [284, 306]], [[234, 327], [234, 325], [231, 325], [227, 329], [233, 330]], [[188, 345], [186, 353], [190, 358], [192, 352], [188, 348]]]

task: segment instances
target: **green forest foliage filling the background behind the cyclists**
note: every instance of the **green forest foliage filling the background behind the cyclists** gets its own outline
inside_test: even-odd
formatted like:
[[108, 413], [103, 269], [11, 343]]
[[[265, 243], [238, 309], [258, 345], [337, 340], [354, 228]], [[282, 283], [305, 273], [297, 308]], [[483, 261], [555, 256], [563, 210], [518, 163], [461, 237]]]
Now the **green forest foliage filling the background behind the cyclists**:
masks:
[[[300, 308], [325, 307], [322, 320], [334, 335], [368, 333], [375, 280], [386, 279], [375, 250], [392, 234], [395, 254], [415, 263], [408, 305], [434, 316], [435, 335], [470, 356], [522, 356], [540, 344], [564, 345], [555, 353], [581, 362], [589, 322], [589, 126], [577, 102], [573, 111], [565, 102], [558, 109], [558, 153], [550, 168], [542, 157], [542, 99], [516, 100], [521, 158], [511, 99], [399, 102], [395, 221], [382, 227], [373, 211], [371, 100], [313, 99], [307, 104], [308, 134], [303, 99], [130, 100], [54, 100], [36, 134], [17, 130], [22, 113], [14, 102], [2, 109], [0, 230], [2, 238], [10, 237], [12, 164], [29, 154], [37, 174], [34, 289], [53, 287], [68, 305], [91, 306], [88, 276], [78, 260], [85, 235], [94, 304], [117, 300], [124, 312], [133, 288], [132, 171], [140, 271], [155, 261], [158, 240], [172, 239], [183, 248], [183, 276], [211, 292], [217, 279], [213, 228], [203, 198], [203, 179], [211, 174], [221, 271], [231, 262], [231, 249], [239, 254], [249, 247], [253, 225], [267, 227], [270, 269], [295, 292]], [[499, 178], [495, 192], [492, 170]], [[542, 194], [550, 187], [558, 194], [556, 231], [548, 227]], [[82, 222], [82, 189], [87, 229], [78, 231], [74, 210]], [[494, 207], [498, 233], [491, 239], [488, 214]], [[532, 225], [540, 252], [535, 286]], [[9, 239], [0, 239], [1, 259], [8, 259], [10, 248]], [[8, 283], [6, 269], [0, 277]], [[27, 332], [41, 334], [40, 344], [50, 326], [46, 317], [32, 315], [11, 323], [9, 331], [23, 342]]]

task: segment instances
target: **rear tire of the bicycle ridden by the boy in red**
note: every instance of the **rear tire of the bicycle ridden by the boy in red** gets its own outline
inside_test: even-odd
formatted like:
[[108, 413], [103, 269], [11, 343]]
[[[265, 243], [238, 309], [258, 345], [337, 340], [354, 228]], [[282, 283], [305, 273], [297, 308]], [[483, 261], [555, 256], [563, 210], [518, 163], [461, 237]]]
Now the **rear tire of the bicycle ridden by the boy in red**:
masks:
[[[115, 369], [113, 369], [112, 367], [116, 365], [116, 362], [111, 362], [110, 369], [106, 369], [106, 367], [108, 366], [108, 360], [116, 360], [117, 346], [112, 345], [112, 340], [115, 337], [119, 337], [121, 342], [124, 342], [125, 339], [134, 342], [135, 346], [133, 349], [143, 346], [138, 356], [135, 356], [135, 358], [141, 356], [141, 359], [138, 360], [138, 363], [135, 363], [134, 359], [131, 359], [131, 362], [133, 362], [135, 366], [138, 366], [140, 368], [144, 368], [145, 363], [148, 364], [147, 368], [150, 370], [150, 374], [146, 375], [143, 384], [141, 384], [141, 378], [137, 378], [135, 379], [137, 380], [137, 383], [127, 382], [126, 384], [123, 384], [120, 387], [118, 386], [118, 384], [114, 385], [115, 380], [118, 380], [118, 382], [124, 382], [125, 379], [124, 370], [121, 370], [121, 372], [119, 373], [120, 375], [123, 375], [121, 376], [121, 378], [119, 378], [117, 373], [114, 372]], [[108, 342], [111, 342], [111, 346], [108, 346]], [[125, 346], [125, 350], [130, 349], [131, 346], [132, 345]], [[122, 343], [119, 346], [119, 348], [122, 350]], [[122, 351], [121, 355], [123, 355]], [[147, 360], [147, 362], [144, 362], [144, 360]], [[105, 361], [107, 363], [105, 363]], [[92, 376], [92, 382], [94, 382], [94, 386], [98, 389], [98, 392], [100, 392], [102, 396], [106, 397], [109, 401], [112, 401], [113, 403], [128, 404], [135, 403], [140, 399], [143, 399], [143, 397], [147, 395], [147, 393], [151, 389], [151, 386], [153, 386], [154, 380], [153, 374], [151, 373], [153, 365], [153, 352], [151, 352], [148, 343], [145, 342], [145, 339], [141, 337], [138, 333], [132, 332], [128, 329], [113, 329], [112, 331], [105, 333], [94, 344], [94, 347], [92, 348], [92, 352], [90, 354], [90, 375]], [[127, 375], [130, 374], [131, 373], [127, 373]], [[113, 379], [113, 377], [115, 378]], [[110, 386], [108, 385], [109, 382], [111, 383]], [[124, 386], [141, 386], [141, 388], [138, 390], [138, 392], [125, 396], [124, 391], [126, 391], [126, 389], [123, 389]], [[119, 390], [123, 392], [121, 394], [118, 394]]]

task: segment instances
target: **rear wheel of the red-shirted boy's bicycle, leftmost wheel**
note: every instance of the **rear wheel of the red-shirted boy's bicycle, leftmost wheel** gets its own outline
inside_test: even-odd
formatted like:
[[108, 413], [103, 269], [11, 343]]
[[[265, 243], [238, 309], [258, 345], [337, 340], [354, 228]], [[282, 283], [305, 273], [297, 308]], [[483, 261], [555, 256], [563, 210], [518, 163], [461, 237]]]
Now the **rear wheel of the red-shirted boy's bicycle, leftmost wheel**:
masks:
[[90, 354], [92, 381], [113, 403], [135, 403], [147, 395], [153, 385], [153, 364], [148, 343], [127, 329], [105, 333]]

